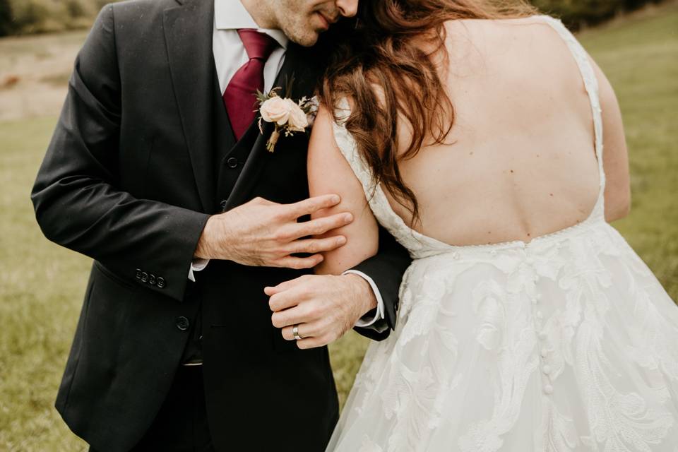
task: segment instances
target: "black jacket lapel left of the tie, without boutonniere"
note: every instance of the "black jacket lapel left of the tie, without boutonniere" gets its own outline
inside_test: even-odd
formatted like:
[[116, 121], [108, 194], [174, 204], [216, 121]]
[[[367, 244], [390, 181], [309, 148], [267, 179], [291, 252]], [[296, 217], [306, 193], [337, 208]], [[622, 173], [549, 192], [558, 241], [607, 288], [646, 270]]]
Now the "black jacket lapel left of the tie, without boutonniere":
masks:
[[204, 212], [214, 206], [211, 168], [214, 3], [177, 0], [164, 12], [165, 42], [174, 95], [191, 156], [196, 187]]

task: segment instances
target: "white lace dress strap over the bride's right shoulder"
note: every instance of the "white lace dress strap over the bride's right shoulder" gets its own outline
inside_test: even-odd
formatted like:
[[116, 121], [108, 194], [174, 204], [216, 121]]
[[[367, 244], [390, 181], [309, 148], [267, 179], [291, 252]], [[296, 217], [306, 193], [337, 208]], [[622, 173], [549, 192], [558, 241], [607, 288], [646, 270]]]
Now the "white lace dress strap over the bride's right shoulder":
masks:
[[[600, 175], [600, 193], [598, 195], [598, 204], [603, 203], [603, 197], [605, 194], [605, 168], [603, 167], [602, 162], [602, 109], [600, 107], [600, 96], [598, 89], [598, 81], [595, 76], [595, 71], [593, 70], [593, 64], [588, 57], [585, 49], [582, 47], [581, 43], [574, 37], [572, 32], [566, 28], [563, 23], [551, 16], [537, 16], [542, 18], [545, 23], [551, 25], [551, 27], [558, 32], [560, 37], [566, 42], [567, 47], [570, 49], [571, 54], [573, 55], [579, 71], [581, 72], [581, 78], [583, 78], [584, 87], [586, 93], [588, 93], [588, 98], [591, 104], [591, 110], [593, 112], [593, 127], [595, 131], [595, 157], [598, 162], [598, 173]], [[598, 208], [598, 206], [597, 206]], [[600, 206], [602, 210], [602, 206]]]

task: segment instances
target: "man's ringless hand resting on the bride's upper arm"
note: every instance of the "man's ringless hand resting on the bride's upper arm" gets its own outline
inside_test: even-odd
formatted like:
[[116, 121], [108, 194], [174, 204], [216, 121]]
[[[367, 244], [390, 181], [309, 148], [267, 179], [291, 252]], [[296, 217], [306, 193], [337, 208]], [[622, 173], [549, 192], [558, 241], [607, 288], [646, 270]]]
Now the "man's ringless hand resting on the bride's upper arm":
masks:
[[[210, 217], [198, 241], [195, 257], [230, 260], [246, 266], [313, 268], [323, 260], [320, 253], [342, 246], [346, 237], [302, 237], [325, 234], [345, 226], [353, 221], [353, 216], [338, 213], [307, 222], [297, 222], [297, 219], [336, 206], [339, 202], [337, 195], [316, 196], [294, 204], [255, 198], [233, 210]], [[296, 253], [312, 256], [290, 256]]]

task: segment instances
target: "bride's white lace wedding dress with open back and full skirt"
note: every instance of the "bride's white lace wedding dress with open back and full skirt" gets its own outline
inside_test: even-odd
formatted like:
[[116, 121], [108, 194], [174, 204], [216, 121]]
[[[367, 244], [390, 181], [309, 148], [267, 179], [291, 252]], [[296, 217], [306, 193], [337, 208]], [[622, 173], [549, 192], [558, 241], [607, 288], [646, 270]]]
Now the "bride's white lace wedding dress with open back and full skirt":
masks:
[[529, 243], [426, 237], [335, 124], [376, 219], [414, 261], [396, 331], [371, 343], [328, 451], [678, 451], [678, 307], [605, 222], [597, 80], [573, 35], [544, 20], [593, 107], [600, 194], [581, 224]]

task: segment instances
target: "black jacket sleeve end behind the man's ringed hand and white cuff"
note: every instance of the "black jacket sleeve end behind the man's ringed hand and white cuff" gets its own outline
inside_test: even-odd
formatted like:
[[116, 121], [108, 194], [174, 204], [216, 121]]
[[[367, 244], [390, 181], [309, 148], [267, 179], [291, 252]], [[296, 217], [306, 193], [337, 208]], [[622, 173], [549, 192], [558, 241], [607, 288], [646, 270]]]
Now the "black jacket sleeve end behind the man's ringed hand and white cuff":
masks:
[[367, 338], [384, 340], [388, 338], [391, 330], [396, 326], [396, 311], [398, 311], [398, 292], [400, 282], [403, 280], [405, 270], [412, 263], [408, 251], [396, 242], [383, 227], [379, 227], [379, 252], [376, 256], [360, 263], [352, 270], [358, 270], [368, 275], [376, 287], [379, 287], [383, 299], [384, 315], [388, 328], [378, 331], [375, 328], [354, 328], [355, 331]]

